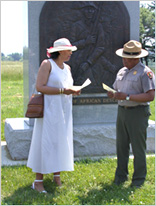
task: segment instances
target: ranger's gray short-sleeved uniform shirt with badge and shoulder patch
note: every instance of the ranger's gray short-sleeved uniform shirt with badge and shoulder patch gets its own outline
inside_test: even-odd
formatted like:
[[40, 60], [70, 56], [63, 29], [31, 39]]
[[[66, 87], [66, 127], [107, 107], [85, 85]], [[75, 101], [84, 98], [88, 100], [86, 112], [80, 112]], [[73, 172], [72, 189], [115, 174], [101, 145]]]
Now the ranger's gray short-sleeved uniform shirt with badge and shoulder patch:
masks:
[[[132, 69], [123, 67], [117, 73], [116, 80], [113, 84], [116, 91], [124, 92], [129, 95], [146, 93], [155, 89], [155, 76], [150, 68], [139, 62]], [[134, 102], [127, 100], [118, 100], [120, 106], [138, 106], [148, 105], [149, 102]]]

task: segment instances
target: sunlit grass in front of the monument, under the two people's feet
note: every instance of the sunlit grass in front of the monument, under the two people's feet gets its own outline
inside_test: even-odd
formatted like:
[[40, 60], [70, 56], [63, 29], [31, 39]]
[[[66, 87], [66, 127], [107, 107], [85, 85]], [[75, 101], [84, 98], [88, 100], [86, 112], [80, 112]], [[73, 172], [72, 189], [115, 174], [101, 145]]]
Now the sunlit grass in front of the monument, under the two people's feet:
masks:
[[35, 175], [26, 166], [2, 167], [2, 205], [155, 205], [155, 157], [147, 158], [147, 178], [139, 188], [130, 187], [133, 160], [129, 162], [129, 180], [121, 186], [113, 184], [116, 159], [75, 162], [74, 172], [62, 172], [63, 186], [44, 176], [47, 194], [30, 187]]

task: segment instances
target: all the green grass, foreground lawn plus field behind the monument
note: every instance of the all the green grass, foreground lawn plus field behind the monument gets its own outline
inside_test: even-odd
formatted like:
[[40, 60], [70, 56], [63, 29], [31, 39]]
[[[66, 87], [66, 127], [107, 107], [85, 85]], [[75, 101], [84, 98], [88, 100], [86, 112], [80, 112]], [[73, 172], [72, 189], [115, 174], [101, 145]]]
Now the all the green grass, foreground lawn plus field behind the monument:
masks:
[[[2, 62], [1, 71], [1, 140], [6, 118], [23, 117], [22, 62]], [[155, 120], [155, 101], [151, 103]], [[62, 172], [63, 187], [52, 183], [53, 175], [45, 175], [48, 194], [30, 189], [35, 175], [26, 166], [1, 168], [2, 205], [155, 205], [155, 157], [147, 158], [147, 179], [140, 189], [130, 187], [133, 161], [129, 162], [129, 180], [122, 186], [113, 184], [116, 159], [75, 162], [74, 172]]]

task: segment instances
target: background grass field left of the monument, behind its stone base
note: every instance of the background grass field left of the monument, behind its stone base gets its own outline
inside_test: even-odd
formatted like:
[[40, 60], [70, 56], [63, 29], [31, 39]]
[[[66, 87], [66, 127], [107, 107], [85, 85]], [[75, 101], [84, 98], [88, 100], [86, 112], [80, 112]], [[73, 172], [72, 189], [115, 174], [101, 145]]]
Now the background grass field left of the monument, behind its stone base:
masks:
[[23, 63], [1, 62], [1, 140], [6, 118], [23, 117]]

